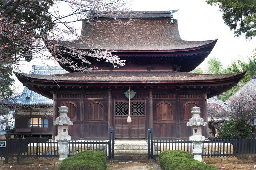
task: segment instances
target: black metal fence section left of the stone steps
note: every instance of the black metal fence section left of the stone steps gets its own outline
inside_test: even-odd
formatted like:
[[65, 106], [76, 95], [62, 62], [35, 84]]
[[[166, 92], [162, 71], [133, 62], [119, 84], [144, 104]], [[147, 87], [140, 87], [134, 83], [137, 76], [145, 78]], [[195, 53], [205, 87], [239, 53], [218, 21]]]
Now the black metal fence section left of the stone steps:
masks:
[[[6, 146], [0, 148], [0, 157], [20, 158], [57, 158], [59, 157], [59, 144], [49, 138], [7, 139]], [[106, 153], [108, 159], [114, 159], [114, 130], [109, 131], [109, 140], [84, 141], [75, 140], [68, 143], [68, 156], [74, 156], [84, 150], [98, 150]]]

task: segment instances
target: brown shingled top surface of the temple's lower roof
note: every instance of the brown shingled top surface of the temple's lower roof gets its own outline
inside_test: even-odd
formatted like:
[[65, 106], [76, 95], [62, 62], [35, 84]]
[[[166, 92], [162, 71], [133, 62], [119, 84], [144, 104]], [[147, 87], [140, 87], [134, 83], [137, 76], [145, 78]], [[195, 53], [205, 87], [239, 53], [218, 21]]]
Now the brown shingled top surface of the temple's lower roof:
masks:
[[55, 75], [37, 75], [17, 73], [19, 77], [27, 77], [33, 79], [42, 79], [47, 81], [86, 81], [86, 82], [122, 82], [122, 81], [168, 81], [168, 82], [205, 82], [208, 80], [221, 81], [222, 79], [229, 79], [234, 76], [239, 76], [243, 73], [232, 74], [197, 74], [178, 71], [88, 71], [75, 72], [67, 74]]

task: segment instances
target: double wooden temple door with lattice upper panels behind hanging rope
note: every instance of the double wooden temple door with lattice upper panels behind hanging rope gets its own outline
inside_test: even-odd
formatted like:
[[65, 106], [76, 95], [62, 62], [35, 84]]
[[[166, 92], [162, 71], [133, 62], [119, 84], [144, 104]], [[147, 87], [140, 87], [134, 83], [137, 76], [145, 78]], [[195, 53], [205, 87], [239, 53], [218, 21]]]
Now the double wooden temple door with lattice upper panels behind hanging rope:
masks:
[[146, 138], [145, 101], [131, 101], [131, 122], [127, 122], [128, 101], [115, 101], [115, 138], [136, 140]]

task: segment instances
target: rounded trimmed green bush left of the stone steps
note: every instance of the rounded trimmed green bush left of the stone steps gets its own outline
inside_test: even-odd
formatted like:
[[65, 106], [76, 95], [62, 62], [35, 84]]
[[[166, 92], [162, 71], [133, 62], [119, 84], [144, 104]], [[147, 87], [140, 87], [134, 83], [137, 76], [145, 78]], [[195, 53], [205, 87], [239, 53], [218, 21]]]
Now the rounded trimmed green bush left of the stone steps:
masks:
[[59, 170], [105, 170], [107, 157], [101, 151], [81, 151], [63, 160]]

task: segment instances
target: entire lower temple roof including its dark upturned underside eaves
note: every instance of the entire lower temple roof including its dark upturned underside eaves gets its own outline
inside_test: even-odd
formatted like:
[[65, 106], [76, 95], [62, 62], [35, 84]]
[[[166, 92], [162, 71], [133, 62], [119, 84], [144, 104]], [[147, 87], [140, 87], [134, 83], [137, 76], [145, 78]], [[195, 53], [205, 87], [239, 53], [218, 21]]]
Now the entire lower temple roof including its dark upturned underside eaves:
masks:
[[24, 86], [49, 98], [53, 98], [53, 90], [107, 90], [125, 86], [142, 87], [144, 90], [203, 90], [210, 98], [237, 85], [245, 72], [196, 74], [177, 71], [91, 71], [55, 75], [14, 74]]

